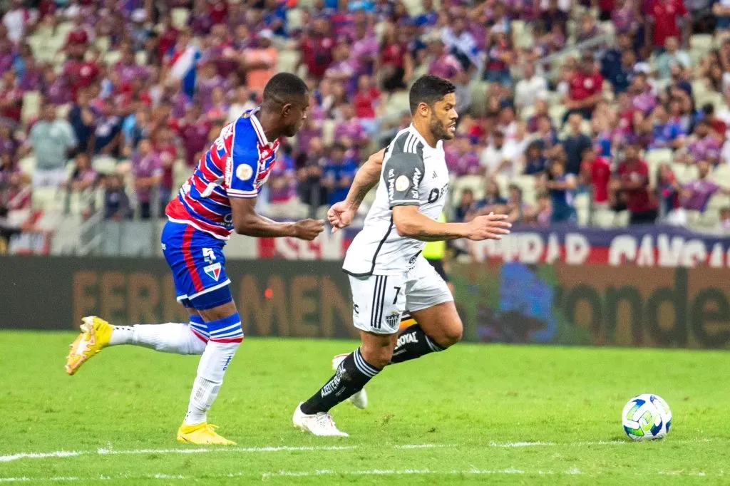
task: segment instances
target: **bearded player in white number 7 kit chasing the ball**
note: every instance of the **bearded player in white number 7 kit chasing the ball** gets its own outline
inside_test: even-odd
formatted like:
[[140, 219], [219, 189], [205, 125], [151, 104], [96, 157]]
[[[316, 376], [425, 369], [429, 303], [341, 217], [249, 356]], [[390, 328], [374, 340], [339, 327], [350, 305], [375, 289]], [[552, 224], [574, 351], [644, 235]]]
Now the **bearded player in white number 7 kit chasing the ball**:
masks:
[[[412, 125], [361, 167], [345, 201], [328, 212], [330, 223], [344, 228], [366, 193], [382, 182], [342, 266], [350, 277], [353, 323], [362, 345], [341, 360], [317, 393], [296, 407], [293, 423], [301, 430], [346, 436], [329, 414], [333, 406], [362, 390], [386, 365], [445, 350], [461, 339], [453, 296], [421, 255], [426, 242], [500, 239], [510, 232], [506, 215], [480, 216], [470, 223], [437, 221], [449, 180], [442, 141], [456, 133], [455, 90], [439, 77], [416, 80], [409, 95]], [[399, 334], [406, 309], [417, 324]]]

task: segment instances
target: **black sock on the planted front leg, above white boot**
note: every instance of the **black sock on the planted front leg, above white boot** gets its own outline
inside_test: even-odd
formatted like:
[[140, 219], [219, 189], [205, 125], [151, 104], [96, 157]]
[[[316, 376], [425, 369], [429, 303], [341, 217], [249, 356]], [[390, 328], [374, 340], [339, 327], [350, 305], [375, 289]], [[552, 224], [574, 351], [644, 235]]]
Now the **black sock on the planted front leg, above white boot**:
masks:
[[331, 377], [312, 398], [301, 404], [301, 411], [307, 415], [329, 412], [333, 406], [360, 391], [379, 372], [379, 369], [363, 358], [358, 347], [339, 363], [334, 377]]

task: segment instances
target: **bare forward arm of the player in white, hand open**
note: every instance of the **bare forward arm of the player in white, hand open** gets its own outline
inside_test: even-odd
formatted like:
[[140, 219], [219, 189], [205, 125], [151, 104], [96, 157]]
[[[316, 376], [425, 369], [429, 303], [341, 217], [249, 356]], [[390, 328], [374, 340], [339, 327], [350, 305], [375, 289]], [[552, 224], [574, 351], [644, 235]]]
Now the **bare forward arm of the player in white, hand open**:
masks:
[[507, 215], [477, 216], [469, 223], [439, 223], [418, 211], [418, 206], [393, 207], [393, 223], [401, 236], [422, 242], [441, 242], [450, 239], [502, 239], [510, 234], [512, 223]]

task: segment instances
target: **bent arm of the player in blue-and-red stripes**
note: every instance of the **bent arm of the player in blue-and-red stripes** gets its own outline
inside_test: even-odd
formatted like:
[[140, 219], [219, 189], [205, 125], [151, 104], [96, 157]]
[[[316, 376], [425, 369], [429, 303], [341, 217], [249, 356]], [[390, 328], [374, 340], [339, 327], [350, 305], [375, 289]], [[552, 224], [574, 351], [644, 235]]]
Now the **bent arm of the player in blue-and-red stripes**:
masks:
[[278, 223], [255, 212], [256, 198], [231, 198], [231, 213], [236, 233], [256, 238], [293, 236], [311, 241], [324, 230], [323, 220]]

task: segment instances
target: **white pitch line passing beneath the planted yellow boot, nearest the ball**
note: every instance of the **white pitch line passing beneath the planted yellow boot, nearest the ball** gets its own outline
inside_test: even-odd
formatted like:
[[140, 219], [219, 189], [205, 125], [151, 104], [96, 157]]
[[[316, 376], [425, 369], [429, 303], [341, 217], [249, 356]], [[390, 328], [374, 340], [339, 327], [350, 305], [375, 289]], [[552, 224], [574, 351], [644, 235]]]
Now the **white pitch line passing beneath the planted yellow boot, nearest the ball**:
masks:
[[[704, 442], [718, 441], [720, 439], [664, 439], [672, 444], [698, 444]], [[604, 446], [604, 445], [623, 445], [632, 444], [629, 440], [615, 441], [583, 441], [583, 442], [494, 442], [484, 444], [486, 447], [585, 447], [585, 446]], [[436, 447], [454, 449], [456, 444], [399, 444], [393, 445], [393, 449], [432, 449]], [[131, 450], [113, 450], [111, 448], [101, 448], [94, 451], [53, 451], [53, 452], [17, 452], [11, 455], [0, 455], [0, 463], [9, 463], [15, 460], [23, 459], [45, 459], [45, 458], [74, 458], [80, 455], [139, 455], [139, 454], [213, 454], [218, 452], [283, 452], [283, 451], [328, 451], [328, 450], [353, 450], [357, 449], [357, 445], [351, 446], [277, 446], [277, 447], [212, 447], [212, 448], [196, 448], [196, 449], [131, 449]]]

